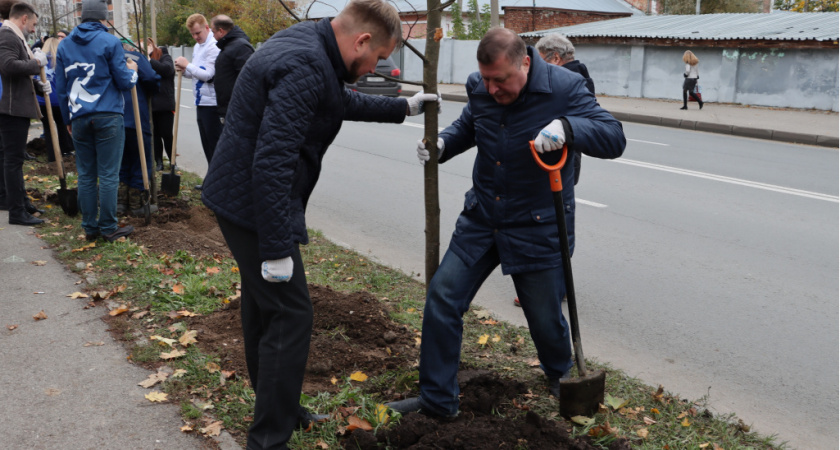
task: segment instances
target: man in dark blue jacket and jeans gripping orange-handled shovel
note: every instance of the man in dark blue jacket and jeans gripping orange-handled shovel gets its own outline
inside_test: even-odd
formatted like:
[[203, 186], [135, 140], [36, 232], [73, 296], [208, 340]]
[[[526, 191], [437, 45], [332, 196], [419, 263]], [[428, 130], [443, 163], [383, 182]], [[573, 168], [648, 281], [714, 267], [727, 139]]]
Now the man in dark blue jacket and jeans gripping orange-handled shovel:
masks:
[[[578, 74], [546, 63], [513, 31], [493, 28], [478, 46], [461, 117], [440, 134], [439, 162], [478, 147], [473, 187], [449, 249], [429, 284], [420, 346], [420, 396], [390, 403], [407, 413], [454, 417], [464, 313], [499, 265], [510, 275], [549, 390], [572, 367], [569, 327], [560, 307], [566, 287], [549, 177], [534, 161], [568, 145], [596, 158], [617, 158], [626, 140], [621, 122], [601, 108]], [[430, 158], [418, 142], [418, 157]], [[546, 155], [549, 161], [554, 155]], [[574, 242], [574, 165], [562, 171], [568, 238]]]

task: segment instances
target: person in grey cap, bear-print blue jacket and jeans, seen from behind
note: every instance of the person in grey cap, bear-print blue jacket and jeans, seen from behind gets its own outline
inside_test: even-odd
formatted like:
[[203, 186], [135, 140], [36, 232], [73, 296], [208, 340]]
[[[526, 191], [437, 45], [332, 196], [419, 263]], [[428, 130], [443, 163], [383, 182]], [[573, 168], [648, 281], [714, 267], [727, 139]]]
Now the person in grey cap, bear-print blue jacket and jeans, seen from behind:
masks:
[[134, 231], [117, 222], [117, 188], [125, 144], [122, 91], [137, 83], [137, 64], [126, 61], [120, 40], [103, 25], [107, 19], [106, 0], [82, 0], [82, 23], [58, 46], [55, 87], [76, 147], [85, 238], [113, 242]]

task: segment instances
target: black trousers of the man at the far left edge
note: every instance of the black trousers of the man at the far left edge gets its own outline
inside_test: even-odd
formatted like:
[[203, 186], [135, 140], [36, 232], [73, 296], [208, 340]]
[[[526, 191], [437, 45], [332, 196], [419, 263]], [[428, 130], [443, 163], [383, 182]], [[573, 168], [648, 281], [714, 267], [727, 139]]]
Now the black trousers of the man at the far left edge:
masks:
[[29, 118], [0, 114], [0, 204], [9, 210], [9, 218], [24, 217], [26, 188], [23, 184], [23, 152], [29, 136]]

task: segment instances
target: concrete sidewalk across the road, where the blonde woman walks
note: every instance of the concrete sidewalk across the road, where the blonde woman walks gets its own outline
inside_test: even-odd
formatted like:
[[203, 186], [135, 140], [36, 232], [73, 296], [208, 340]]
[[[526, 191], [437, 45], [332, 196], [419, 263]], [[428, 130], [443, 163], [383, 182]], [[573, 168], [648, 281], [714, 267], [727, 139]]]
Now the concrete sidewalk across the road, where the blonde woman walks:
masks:
[[[444, 100], [467, 101], [462, 84], [438, 85]], [[418, 91], [417, 86], [403, 85], [403, 95]], [[703, 109], [689, 102], [680, 110], [681, 101], [646, 98], [598, 96], [598, 102], [616, 119], [711, 133], [732, 134], [799, 144], [837, 148], [840, 135], [838, 114], [831, 111], [765, 108], [706, 102]], [[446, 124], [442, 124], [446, 126]]]

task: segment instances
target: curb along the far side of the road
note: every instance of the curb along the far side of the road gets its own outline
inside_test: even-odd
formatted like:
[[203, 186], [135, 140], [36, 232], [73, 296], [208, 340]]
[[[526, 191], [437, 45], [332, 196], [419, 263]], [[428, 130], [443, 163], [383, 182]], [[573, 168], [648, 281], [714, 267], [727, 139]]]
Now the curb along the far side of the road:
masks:
[[[417, 89], [402, 90], [403, 96], [411, 96], [418, 92]], [[452, 102], [467, 102], [466, 94], [441, 94], [441, 98]], [[729, 134], [732, 136], [748, 137], [753, 139], [764, 139], [769, 141], [790, 142], [794, 144], [817, 145], [820, 147], [838, 148], [840, 138], [821, 134], [795, 133], [790, 131], [778, 131], [764, 128], [743, 127], [738, 125], [727, 125], [717, 122], [704, 122], [689, 119], [677, 119], [673, 117], [651, 116], [647, 114], [636, 114], [624, 111], [609, 111], [616, 119], [622, 122], [634, 122], [644, 125], [656, 125], [670, 128], [682, 128], [685, 130], [704, 131], [707, 133]]]

